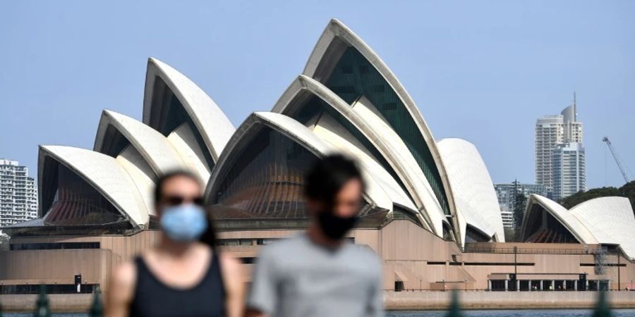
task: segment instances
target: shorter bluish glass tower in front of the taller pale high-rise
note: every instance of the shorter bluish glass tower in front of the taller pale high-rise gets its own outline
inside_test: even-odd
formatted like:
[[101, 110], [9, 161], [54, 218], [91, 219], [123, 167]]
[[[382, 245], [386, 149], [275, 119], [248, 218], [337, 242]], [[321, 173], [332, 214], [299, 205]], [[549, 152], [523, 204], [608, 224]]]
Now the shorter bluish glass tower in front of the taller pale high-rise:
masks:
[[553, 198], [586, 190], [586, 163], [581, 143], [558, 144], [553, 150]]

